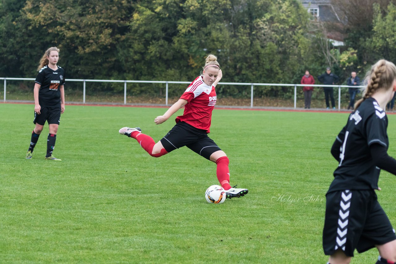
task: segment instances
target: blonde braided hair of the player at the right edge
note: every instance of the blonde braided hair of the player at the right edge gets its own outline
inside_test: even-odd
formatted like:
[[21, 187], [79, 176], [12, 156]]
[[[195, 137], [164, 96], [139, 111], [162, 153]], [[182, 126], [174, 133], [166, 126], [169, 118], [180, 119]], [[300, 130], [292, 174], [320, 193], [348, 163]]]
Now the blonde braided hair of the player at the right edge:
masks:
[[389, 89], [396, 79], [396, 66], [384, 59], [377, 61], [366, 75], [367, 86], [363, 92], [363, 98], [355, 103], [355, 109], [371, 97], [379, 89]]

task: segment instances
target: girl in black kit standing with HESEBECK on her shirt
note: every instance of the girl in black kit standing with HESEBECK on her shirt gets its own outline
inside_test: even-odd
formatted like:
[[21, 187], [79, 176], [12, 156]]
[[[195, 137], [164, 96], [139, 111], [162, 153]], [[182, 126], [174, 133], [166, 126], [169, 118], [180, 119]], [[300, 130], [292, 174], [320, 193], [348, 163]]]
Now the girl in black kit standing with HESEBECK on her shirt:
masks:
[[31, 159], [34, 146], [38, 141], [46, 121], [49, 126], [47, 138], [46, 160], [59, 159], [52, 156], [55, 146], [56, 133], [61, 118], [65, 112], [65, 70], [56, 65], [59, 61], [59, 49], [50, 47], [44, 53], [37, 68], [38, 74], [34, 84], [34, 120], [36, 125], [32, 132], [29, 150], [26, 158]]

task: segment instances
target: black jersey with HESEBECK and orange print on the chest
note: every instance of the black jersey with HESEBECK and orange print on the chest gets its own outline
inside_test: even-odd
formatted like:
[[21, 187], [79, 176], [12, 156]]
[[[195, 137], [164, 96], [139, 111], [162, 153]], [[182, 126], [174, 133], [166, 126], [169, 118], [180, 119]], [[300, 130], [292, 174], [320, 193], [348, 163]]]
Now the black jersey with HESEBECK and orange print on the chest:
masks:
[[44, 66], [38, 72], [34, 81], [41, 85], [38, 92], [38, 103], [40, 106], [61, 106], [61, 91], [59, 86], [65, 84], [65, 70], [58, 66], [52, 70]]

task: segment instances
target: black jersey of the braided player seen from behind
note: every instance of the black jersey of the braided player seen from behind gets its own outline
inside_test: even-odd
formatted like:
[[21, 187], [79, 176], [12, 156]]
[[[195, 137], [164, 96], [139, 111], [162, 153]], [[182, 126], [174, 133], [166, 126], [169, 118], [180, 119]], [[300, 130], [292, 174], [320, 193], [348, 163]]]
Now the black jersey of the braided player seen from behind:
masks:
[[360, 104], [337, 136], [341, 143], [340, 163], [328, 192], [337, 190], [372, 190], [378, 188], [380, 169], [371, 158], [370, 145], [388, 148], [388, 118], [373, 98]]

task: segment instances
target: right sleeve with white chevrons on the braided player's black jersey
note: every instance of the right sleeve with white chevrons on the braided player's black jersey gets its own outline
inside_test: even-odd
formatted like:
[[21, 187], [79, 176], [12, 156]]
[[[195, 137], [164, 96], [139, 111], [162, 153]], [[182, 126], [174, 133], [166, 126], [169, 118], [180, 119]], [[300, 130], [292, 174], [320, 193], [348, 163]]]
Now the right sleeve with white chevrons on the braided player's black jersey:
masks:
[[371, 146], [373, 143], [380, 144], [388, 148], [388, 135], [386, 134], [386, 128], [388, 122], [386, 119], [386, 114], [383, 111], [375, 111], [375, 114], [369, 116], [366, 121], [366, 135], [367, 135], [367, 145]]

